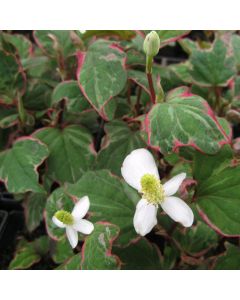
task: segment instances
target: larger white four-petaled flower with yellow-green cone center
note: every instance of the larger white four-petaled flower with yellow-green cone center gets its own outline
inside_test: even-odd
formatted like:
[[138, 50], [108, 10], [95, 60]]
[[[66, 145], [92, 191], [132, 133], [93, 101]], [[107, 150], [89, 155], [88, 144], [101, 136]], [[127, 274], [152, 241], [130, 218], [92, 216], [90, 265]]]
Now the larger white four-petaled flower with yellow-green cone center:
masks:
[[154, 158], [146, 149], [132, 151], [125, 158], [121, 172], [125, 181], [142, 193], [133, 219], [138, 234], [145, 236], [157, 224], [159, 205], [174, 221], [185, 227], [192, 225], [194, 215], [191, 208], [173, 196], [186, 178], [186, 173], [174, 176], [162, 185]]

